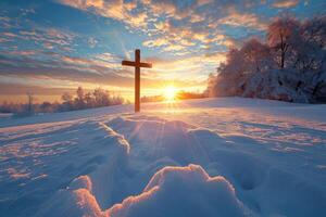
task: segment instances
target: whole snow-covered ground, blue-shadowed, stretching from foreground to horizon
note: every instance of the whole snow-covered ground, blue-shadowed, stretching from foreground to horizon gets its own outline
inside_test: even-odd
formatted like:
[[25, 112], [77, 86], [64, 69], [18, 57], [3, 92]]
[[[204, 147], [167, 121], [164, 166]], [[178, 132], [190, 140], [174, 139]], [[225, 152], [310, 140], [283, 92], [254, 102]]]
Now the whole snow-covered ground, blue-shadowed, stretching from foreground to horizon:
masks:
[[221, 98], [0, 119], [0, 216], [326, 216], [326, 105]]

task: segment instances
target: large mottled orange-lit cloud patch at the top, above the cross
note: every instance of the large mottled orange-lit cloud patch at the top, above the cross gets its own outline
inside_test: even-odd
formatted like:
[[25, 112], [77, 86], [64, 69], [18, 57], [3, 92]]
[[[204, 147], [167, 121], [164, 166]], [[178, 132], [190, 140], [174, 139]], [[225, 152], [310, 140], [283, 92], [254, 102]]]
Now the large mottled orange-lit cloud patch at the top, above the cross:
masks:
[[227, 3], [212, 0], [189, 2], [141, 0], [128, 3], [122, 0], [60, 0], [60, 2], [120, 21], [134, 30], [149, 34], [150, 38], [142, 42], [145, 47], [160, 48], [161, 51], [174, 55], [185, 55], [189, 54], [190, 50], [197, 52], [202, 48], [218, 44], [229, 47], [231, 41], [220, 31], [218, 25], [256, 30], [264, 30], [266, 27], [258, 15], [239, 12], [246, 7], [254, 5], [251, 0]]

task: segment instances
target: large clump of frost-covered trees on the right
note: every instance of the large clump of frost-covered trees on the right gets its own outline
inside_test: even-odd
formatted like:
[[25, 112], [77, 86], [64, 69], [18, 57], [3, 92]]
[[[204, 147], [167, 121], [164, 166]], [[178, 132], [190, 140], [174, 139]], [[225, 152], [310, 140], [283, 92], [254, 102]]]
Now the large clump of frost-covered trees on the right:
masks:
[[266, 42], [251, 38], [230, 49], [205, 93], [291, 102], [326, 102], [326, 16], [272, 22]]

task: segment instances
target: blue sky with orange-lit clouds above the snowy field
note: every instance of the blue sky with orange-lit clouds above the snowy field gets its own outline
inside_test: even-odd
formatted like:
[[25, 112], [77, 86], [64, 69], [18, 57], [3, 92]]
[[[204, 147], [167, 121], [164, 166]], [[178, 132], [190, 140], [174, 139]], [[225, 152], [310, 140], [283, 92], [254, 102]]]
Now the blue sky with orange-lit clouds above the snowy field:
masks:
[[1, 0], [0, 102], [57, 101], [78, 86], [133, 101], [134, 68], [121, 61], [135, 49], [153, 64], [141, 95], [202, 91], [225, 53], [264, 39], [273, 18], [325, 13], [323, 0]]

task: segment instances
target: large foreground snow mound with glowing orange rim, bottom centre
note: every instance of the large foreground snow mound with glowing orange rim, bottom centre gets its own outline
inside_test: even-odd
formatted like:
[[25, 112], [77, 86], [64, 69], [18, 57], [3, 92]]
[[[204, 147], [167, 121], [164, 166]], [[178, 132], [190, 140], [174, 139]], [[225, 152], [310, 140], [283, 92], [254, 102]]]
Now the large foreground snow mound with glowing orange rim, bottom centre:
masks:
[[143, 192], [109, 209], [109, 216], [244, 216], [235, 189], [224, 177], [211, 178], [201, 166], [165, 167]]

